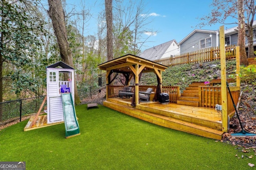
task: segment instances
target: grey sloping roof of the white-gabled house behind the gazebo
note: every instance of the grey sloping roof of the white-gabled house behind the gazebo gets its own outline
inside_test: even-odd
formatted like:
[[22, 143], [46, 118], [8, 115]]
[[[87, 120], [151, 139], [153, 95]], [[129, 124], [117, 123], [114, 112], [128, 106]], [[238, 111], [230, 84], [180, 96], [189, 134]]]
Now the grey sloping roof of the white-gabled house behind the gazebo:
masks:
[[143, 51], [140, 57], [148, 60], [160, 59], [173, 42], [177, 44], [176, 40], [173, 39], [166, 43], [154, 46], [150, 49], [146, 49], [145, 51]]

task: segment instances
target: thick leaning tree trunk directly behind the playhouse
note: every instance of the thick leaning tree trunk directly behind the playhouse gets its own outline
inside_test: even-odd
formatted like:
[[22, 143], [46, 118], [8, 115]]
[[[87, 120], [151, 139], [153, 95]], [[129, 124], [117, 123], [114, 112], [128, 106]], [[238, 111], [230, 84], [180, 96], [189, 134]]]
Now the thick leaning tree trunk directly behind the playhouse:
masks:
[[[58, 45], [60, 47], [61, 60], [64, 63], [68, 64], [69, 66], [74, 67], [72, 53], [68, 43], [65, 16], [64, 16], [64, 10], [62, 8], [61, 0], [48, 0], [48, 4], [49, 4], [48, 14], [52, 19], [54, 34], [57, 37]], [[74, 80], [74, 94], [75, 94], [75, 98], [74, 98], [75, 104], [80, 104], [80, 98], [78, 96], [76, 80]]]

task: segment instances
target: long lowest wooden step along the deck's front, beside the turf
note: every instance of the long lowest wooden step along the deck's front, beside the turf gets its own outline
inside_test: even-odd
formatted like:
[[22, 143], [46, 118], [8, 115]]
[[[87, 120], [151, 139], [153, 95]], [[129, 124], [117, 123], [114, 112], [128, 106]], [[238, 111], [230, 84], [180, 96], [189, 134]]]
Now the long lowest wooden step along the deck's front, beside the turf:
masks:
[[127, 115], [136, 117], [138, 119], [142, 119], [144, 121], [154, 123], [156, 125], [168, 127], [170, 129], [175, 129], [178, 131], [191, 133], [194, 135], [208, 137], [211, 139], [218, 139], [218, 140], [222, 139], [223, 132], [221, 130], [216, 130], [210, 127], [204, 127], [202, 125], [197, 125], [194, 123], [174, 119], [171, 117], [166, 117], [164, 115], [143, 111], [141, 109], [137, 109], [134, 107], [122, 106], [121, 104], [117, 104], [113, 102], [104, 101], [103, 105], [111, 109], [114, 109], [116, 111], [120, 111], [121, 113], [125, 113]]

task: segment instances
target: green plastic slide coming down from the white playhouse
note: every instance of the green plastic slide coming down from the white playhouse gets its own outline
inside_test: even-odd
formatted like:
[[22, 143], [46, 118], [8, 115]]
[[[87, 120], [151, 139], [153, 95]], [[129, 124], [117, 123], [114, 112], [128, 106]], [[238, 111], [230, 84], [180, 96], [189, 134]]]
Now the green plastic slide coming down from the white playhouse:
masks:
[[71, 93], [62, 93], [61, 97], [64, 123], [66, 128], [66, 138], [80, 135], [80, 129], [76, 119], [76, 110], [73, 104], [72, 95]]

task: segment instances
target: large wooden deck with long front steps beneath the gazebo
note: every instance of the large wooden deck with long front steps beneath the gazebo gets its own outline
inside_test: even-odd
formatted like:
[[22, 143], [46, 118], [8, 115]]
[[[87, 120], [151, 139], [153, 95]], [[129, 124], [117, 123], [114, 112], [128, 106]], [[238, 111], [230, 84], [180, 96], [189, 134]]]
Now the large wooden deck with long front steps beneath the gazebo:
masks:
[[214, 108], [160, 102], [130, 106], [131, 99], [108, 98], [103, 105], [163, 127], [212, 139], [222, 139], [222, 116]]

